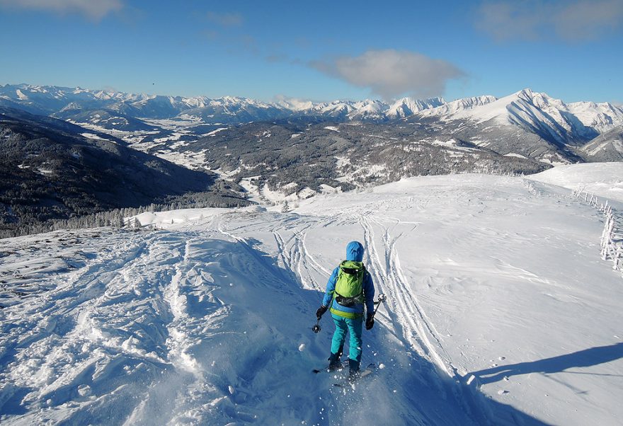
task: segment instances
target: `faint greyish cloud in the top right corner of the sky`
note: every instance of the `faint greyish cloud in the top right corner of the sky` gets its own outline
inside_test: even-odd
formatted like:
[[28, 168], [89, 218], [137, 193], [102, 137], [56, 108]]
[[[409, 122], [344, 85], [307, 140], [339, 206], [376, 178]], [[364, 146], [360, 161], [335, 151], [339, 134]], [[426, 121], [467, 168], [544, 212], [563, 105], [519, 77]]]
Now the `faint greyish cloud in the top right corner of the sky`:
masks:
[[498, 41], [539, 40], [553, 32], [566, 41], [595, 40], [622, 25], [623, 1], [494, 1], [481, 4], [476, 28]]

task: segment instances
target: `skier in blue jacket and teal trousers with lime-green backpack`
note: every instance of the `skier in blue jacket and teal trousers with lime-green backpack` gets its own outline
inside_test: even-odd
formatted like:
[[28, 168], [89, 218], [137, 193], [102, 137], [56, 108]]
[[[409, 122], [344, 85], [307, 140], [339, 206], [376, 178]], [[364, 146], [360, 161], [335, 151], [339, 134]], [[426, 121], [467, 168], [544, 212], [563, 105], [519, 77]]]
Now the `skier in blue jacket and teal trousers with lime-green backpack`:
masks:
[[329, 369], [341, 367], [341, 356], [346, 340], [348, 343], [348, 371], [350, 378], [358, 375], [361, 363], [362, 339], [361, 331], [364, 317], [364, 306], [367, 311], [365, 329], [371, 330], [375, 325], [375, 285], [370, 272], [362, 263], [364, 248], [358, 241], [351, 241], [346, 246], [346, 260], [333, 270], [326, 283], [326, 292], [316, 318], [330, 309], [336, 331], [331, 341], [331, 355], [328, 357]]

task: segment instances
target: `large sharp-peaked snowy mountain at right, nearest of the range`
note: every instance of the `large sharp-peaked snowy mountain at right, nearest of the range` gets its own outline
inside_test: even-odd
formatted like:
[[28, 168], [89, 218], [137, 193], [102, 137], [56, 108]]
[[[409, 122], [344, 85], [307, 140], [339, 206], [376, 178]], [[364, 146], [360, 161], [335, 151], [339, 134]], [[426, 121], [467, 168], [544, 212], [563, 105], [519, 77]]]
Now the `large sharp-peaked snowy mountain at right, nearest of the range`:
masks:
[[551, 163], [590, 161], [579, 148], [623, 121], [623, 109], [611, 104], [566, 104], [546, 93], [524, 89], [493, 96], [455, 100], [409, 117], [433, 121], [437, 132], [452, 132], [499, 154], [521, 155]]

